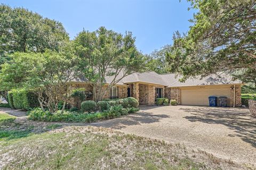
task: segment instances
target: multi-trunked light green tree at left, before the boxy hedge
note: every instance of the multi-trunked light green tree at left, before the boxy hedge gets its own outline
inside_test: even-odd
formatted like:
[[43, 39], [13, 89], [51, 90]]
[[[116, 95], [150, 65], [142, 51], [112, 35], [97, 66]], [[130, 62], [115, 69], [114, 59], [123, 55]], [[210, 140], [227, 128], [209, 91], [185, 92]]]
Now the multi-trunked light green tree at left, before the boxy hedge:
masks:
[[26, 88], [38, 95], [42, 109], [57, 111], [60, 100], [68, 101], [67, 83], [74, 78], [76, 58], [69, 52], [21, 53], [11, 55], [0, 72], [4, 90]]

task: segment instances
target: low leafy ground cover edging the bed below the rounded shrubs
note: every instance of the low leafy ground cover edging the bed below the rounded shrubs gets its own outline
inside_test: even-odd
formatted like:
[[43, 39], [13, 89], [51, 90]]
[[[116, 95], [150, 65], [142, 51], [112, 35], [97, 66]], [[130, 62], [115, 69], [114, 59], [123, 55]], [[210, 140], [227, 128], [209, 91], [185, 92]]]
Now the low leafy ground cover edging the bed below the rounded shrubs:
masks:
[[136, 111], [139, 111], [139, 109], [133, 107], [124, 109], [121, 105], [111, 106], [109, 110], [105, 110], [103, 112], [95, 112], [94, 114], [84, 114], [69, 111], [65, 111], [63, 114], [61, 114], [60, 110], [51, 114], [49, 111], [43, 111], [40, 108], [36, 108], [29, 111], [29, 119], [42, 122], [92, 123], [101, 119], [113, 119], [122, 115], [132, 114]]

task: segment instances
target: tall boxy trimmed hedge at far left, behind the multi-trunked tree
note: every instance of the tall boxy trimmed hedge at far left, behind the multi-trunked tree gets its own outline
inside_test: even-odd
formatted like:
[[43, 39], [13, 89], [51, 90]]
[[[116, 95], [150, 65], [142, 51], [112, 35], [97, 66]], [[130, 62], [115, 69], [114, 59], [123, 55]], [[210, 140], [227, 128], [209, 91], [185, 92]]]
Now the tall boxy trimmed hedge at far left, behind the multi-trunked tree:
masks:
[[39, 106], [36, 94], [25, 89], [13, 89], [8, 92], [11, 108], [29, 110]]

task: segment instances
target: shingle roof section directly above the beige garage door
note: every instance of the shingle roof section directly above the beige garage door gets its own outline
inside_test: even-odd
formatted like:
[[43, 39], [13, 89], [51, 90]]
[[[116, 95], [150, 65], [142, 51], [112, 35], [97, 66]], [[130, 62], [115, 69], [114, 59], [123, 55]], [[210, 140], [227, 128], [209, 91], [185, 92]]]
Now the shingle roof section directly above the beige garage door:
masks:
[[196, 76], [195, 78], [188, 78], [184, 83], [179, 82], [182, 76], [175, 76], [175, 74], [163, 74], [161, 75], [168, 87], [180, 87], [180, 86], [197, 86], [197, 85], [218, 85], [218, 84], [241, 84], [240, 80], [233, 80], [232, 77], [225, 73], [212, 74], [201, 78]]

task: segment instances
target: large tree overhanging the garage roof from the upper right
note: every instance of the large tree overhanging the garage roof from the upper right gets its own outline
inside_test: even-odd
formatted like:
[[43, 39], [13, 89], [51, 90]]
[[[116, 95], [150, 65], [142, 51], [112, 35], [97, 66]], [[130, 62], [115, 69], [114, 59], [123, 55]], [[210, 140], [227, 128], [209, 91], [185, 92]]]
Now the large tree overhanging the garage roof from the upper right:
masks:
[[254, 0], [188, 0], [198, 10], [188, 34], [174, 35], [167, 54], [170, 70], [186, 79], [218, 71], [256, 67], [256, 2]]

